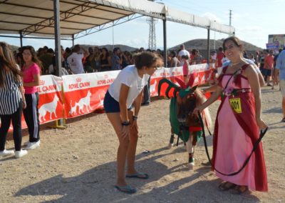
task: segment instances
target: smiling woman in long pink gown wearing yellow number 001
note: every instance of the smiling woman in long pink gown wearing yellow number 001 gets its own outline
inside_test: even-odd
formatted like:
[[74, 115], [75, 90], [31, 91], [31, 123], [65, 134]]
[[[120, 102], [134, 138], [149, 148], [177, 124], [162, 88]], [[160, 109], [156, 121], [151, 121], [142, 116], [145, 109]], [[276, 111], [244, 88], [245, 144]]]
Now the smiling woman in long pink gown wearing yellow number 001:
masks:
[[[214, 127], [213, 169], [223, 174], [239, 171], [259, 139], [259, 129], [266, 128], [261, 119], [261, 91], [254, 66], [242, 59], [243, 47], [239, 39], [231, 36], [224, 40], [224, 54], [232, 61], [219, 76], [219, 86], [212, 96], [197, 107], [201, 112], [221, 96]], [[236, 175], [226, 176], [215, 171], [224, 180], [219, 189], [232, 189], [242, 194], [248, 189], [266, 192], [267, 177], [261, 142], [246, 167]]]

